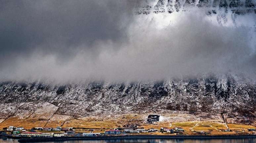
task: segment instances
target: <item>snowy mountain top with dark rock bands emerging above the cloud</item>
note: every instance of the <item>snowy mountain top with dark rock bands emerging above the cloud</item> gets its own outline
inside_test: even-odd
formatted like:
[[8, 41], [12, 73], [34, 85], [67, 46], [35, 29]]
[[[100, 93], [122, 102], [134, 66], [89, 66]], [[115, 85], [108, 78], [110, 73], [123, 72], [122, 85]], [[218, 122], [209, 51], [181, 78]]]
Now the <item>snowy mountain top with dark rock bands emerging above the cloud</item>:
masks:
[[[140, 1], [135, 9], [137, 15], [163, 14], [165, 17], [177, 13], [199, 12], [206, 16], [216, 17], [220, 25], [229, 22], [236, 24], [244, 15], [256, 15], [255, 0], [145, 0]], [[146, 16], [148, 17], [148, 16]]]

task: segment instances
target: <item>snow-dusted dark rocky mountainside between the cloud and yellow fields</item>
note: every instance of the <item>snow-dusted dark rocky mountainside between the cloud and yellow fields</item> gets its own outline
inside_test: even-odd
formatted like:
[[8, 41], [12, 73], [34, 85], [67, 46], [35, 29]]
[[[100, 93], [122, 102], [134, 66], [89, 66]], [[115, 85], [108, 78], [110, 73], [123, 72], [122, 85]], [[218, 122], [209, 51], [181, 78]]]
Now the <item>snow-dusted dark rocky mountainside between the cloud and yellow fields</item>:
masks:
[[[227, 122], [256, 123], [256, 85], [231, 75], [63, 85], [42, 81], [2, 82], [0, 99], [2, 120], [13, 116], [24, 104], [29, 103], [26, 108], [40, 108], [48, 102], [56, 107], [54, 114], [75, 118], [167, 110], [219, 113]], [[40, 112], [47, 113], [47, 110]]]

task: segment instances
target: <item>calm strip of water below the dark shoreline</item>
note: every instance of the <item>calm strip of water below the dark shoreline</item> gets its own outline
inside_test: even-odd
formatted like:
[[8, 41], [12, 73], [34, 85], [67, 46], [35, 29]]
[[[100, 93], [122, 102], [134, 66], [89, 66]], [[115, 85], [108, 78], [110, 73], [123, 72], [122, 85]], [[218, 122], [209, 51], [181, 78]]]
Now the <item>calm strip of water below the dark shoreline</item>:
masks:
[[[44, 143], [256, 143], [256, 138], [247, 139], [207, 139], [207, 140], [180, 140], [180, 139], [125, 139], [125, 140], [78, 140]], [[0, 143], [19, 143], [14, 139], [0, 139]]]

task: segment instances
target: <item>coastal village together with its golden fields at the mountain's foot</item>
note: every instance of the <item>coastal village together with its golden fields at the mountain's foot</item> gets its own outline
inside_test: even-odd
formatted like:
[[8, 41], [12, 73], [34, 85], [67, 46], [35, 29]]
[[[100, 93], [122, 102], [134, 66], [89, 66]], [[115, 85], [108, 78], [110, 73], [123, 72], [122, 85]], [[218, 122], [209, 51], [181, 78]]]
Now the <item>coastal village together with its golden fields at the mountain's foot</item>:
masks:
[[107, 119], [107, 116], [102, 116], [101, 118], [87, 118], [87, 120], [81, 120], [81, 118], [77, 120], [75, 124], [71, 124], [73, 122], [66, 122], [65, 124], [60, 125], [49, 122], [48, 124], [43, 124], [44, 126], [27, 126], [26, 124], [17, 126], [17, 124], [8, 124], [7, 122], [4, 122], [5, 127], [2, 126], [2, 128], [0, 128], [0, 136], [2, 138], [49, 138], [97, 136], [123, 137], [134, 135], [256, 135], [255, 126], [248, 124], [225, 123], [220, 122], [219, 120], [172, 122], [171, 120], [174, 119], [174, 116], [179, 116], [179, 114], [110, 115], [108, 118], [115, 118], [111, 118], [111, 120]]

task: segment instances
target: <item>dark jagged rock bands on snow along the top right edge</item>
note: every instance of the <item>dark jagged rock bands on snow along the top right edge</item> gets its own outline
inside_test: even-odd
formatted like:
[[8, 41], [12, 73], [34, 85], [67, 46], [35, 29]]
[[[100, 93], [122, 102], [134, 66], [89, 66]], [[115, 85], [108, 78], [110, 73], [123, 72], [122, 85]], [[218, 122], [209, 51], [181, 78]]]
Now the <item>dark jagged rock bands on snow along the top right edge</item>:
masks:
[[209, 14], [227, 13], [236, 14], [256, 13], [253, 0], [145, 0], [138, 4], [137, 14], [172, 13], [190, 11], [191, 8], [209, 9]]

